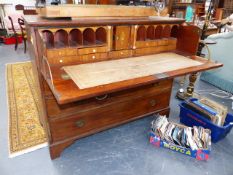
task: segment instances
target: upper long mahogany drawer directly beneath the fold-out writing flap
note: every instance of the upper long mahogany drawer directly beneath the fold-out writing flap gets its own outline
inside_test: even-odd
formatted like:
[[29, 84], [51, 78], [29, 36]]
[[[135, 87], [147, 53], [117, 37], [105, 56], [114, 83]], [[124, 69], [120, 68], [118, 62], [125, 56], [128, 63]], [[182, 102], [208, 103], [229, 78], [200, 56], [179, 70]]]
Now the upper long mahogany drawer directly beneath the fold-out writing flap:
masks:
[[[141, 98], [144, 95], [154, 95], [161, 93], [161, 91], [171, 91], [172, 80], [163, 80], [154, 84], [145, 85], [142, 87], [136, 87], [129, 90], [119, 91], [115, 93], [105, 94], [99, 97], [93, 97], [86, 100], [69, 103], [66, 105], [58, 105], [52, 92], [48, 88], [48, 85], [44, 84], [45, 104], [48, 111], [49, 118], [61, 118], [67, 115], [78, 114], [91, 109], [100, 108], [101, 106], [110, 105], [113, 103], [119, 103], [129, 101], [137, 98]], [[47, 92], [47, 91], [50, 91]]]

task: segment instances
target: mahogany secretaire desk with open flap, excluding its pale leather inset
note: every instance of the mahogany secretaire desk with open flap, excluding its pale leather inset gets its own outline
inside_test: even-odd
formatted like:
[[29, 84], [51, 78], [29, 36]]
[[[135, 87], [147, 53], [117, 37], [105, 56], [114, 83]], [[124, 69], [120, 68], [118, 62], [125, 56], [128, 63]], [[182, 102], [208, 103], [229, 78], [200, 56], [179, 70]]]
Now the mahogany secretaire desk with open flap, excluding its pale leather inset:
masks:
[[[152, 113], [168, 115], [174, 77], [221, 66], [192, 56], [199, 41], [198, 28], [183, 26], [182, 19], [25, 17], [25, 21], [44, 104], [41, 122], [48, 135], [52, 159], [79, 138]], [[188, 56], [203, 64], [84, 89], [63, 69], [67, 65], [164, 52]]]

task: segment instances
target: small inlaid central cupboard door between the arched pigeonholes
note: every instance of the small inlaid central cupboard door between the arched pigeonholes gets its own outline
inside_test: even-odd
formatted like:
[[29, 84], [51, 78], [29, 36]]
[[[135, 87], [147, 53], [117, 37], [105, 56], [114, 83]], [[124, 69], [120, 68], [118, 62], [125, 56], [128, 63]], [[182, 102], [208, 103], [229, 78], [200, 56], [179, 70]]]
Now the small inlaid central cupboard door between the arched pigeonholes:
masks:
[[130, 26], [116, 26], [113, 29], [114, 50], [129, 49], [130, 47]]

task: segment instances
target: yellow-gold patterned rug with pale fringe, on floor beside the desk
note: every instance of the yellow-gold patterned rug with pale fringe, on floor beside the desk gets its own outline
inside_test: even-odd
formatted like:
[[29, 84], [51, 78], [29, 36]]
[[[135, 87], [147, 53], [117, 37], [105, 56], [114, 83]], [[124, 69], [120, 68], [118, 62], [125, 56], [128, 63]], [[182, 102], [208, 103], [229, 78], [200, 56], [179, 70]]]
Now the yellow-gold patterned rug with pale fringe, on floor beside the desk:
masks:
[[47, 146], [31, 62], [7, 65], [9, 157]]

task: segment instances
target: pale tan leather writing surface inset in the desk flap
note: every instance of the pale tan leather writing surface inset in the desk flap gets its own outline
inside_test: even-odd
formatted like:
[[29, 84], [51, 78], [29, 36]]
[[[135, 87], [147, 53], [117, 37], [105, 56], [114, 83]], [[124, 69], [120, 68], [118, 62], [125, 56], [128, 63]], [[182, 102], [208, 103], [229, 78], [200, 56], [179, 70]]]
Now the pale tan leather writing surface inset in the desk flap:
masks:
[[79, 89], [85, 89], [201, 64], [175, 53], [161, 53], [63, 68]]

